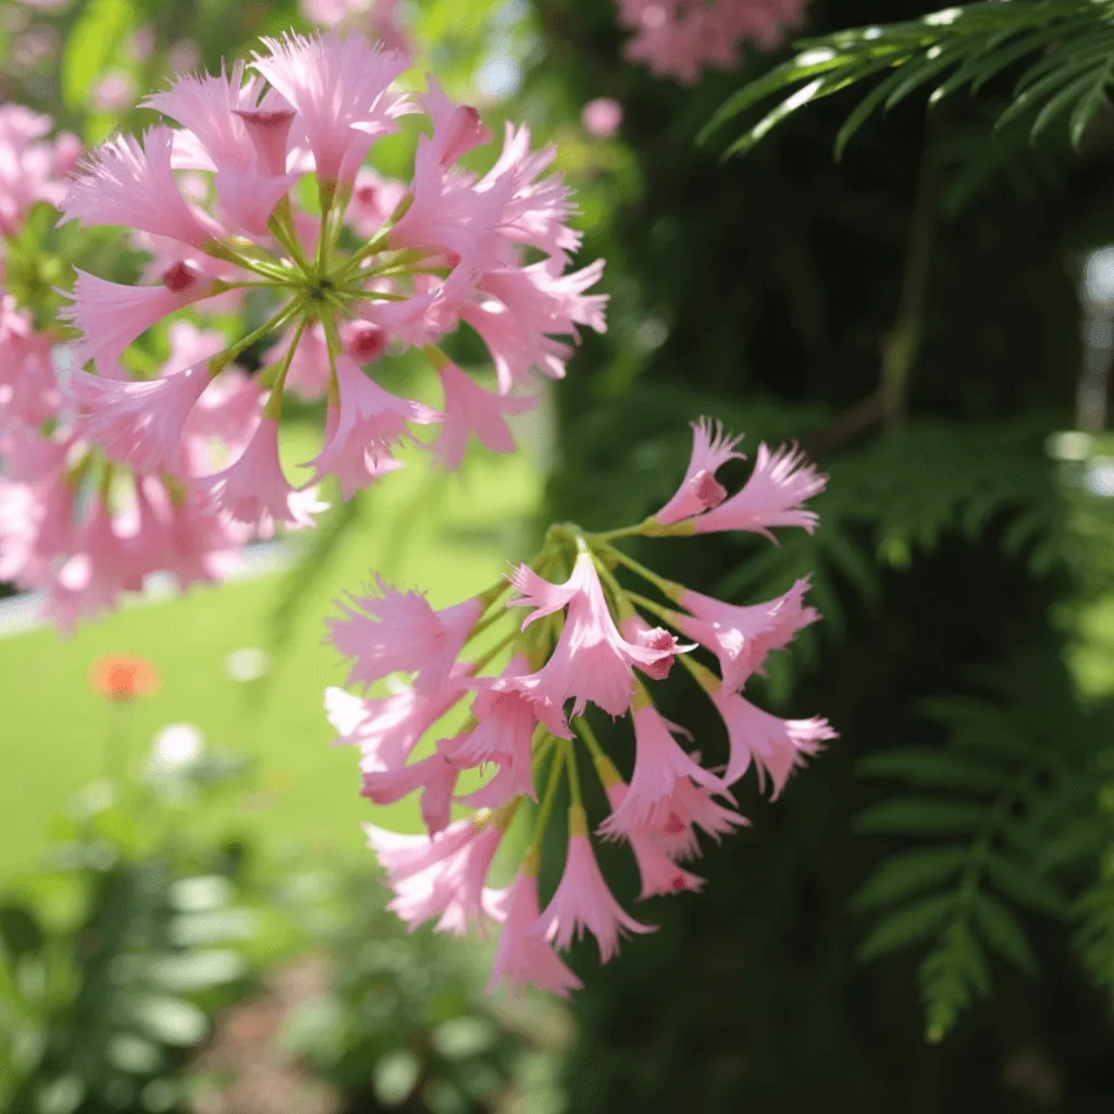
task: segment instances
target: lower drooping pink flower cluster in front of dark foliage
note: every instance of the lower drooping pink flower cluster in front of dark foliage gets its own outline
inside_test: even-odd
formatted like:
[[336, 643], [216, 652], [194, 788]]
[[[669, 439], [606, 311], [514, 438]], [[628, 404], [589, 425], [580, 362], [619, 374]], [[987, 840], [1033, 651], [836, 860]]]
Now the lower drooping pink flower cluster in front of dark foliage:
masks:
[[[353, 662], [350, 685], [413, 675], [387, 696], [365, 700], [340, 688], [325, 694], [339, 742], [360, 750], [362, 794], [389, 804], [420, 793], [426, 834], [367, 825], [394, 893], [390, 908], [411, 928], [429, 920], [438, 931], [453, 934], [501, 926], [491, 988], [506, 980], [567, 996], [580, 983], [558, 952], [574, 938], [590, 932], [606, 962], [624, 934], [651, 931], [612, 893], [594, 839], [629, 847], [642, 879], [639, 898], [698, 890], [703, 879], [683, 866], [700, 854], [698, 833], [719, 840], [746, 823], [735, 811], [731, 786], [753, 765], [760, 785], [769, 779], [776, 797], [792, 771], [834, 737], [822, 719], [782, 720], [743, 696], [768, 655], [785, 648], [819, 618], [803, 603], [807, 579], [775, 599], [735, 606], [657, 576], [614, 545], [632, 535], [749, 530], [770, 536], [781, 526], [813, 530], [817, 516], [803, 502], [823, 489], [827, 478], [797, 452], [761, 446], [749, 480], [729, 497], [716, 472], [741, 459], [737, 440], [698, 423], [687, 472], [657, 515], [607, 534], [586, 534], [569, 524], [553, 527], [541, 554], [519, 566], [509, 586], [500, 583], [434, 610], [423, 596], [380, 580], [378, 590], [342, 604], [341, 615], [329, 624], [333, 644]], [[625, 587], [616, 576], [619, 567], [642, 577], [665, 600]], [[549, 579], [555, 574], [567, 575], [563, 582]], [[511, 588], [517, 594], [506, 598]], [[467, 649], [510, 615], [506, 608], [519, 607], [529, 608], [520, 628], [485, 654]], [[697, 649], [714, 655], [717, 672], [696, 659]], [[485, 673], [508, 654], [497, 674]], [[687, 751], [678, 741], [687, 732], [655, 706], [648, 682], [664, 680], [677, 662], [722, 717], [727, 753], [719, 770]], [[422, 736], [466, 701], [471, 705], [463, 725], [413, 760]], [[628, 778], [585, 719], [588, 705], [613, 717], [629, 715], [635, 760]], [[595, 831], [582, 793], [584, 756], [609, 804]], [[461, 795], [458, 784], [468, 770], [490, 776]], [[543, 841], [566, 778], [565, 866], [543, 907]], [[539, 798], [534, 837], [515, 880], [501, 889], [488, 886], [497, 852], [511, 850], [505, 836], [512, 820], [526, 800]], [[477, 811], [453, 820], [455, 803]]]

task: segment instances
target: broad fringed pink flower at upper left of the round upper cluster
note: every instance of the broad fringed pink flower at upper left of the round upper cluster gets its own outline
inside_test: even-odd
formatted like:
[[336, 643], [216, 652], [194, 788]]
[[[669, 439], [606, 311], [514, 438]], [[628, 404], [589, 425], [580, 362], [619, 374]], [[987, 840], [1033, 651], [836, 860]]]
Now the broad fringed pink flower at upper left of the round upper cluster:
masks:
[[174, 133], [156, 125], [143, 141], [116, 136], [81, 164], [61, 202], [59, 224], [125, 225], [203, 247], [221, 235], [215, 222], [192, 208], [178, 192], [170, 166]]

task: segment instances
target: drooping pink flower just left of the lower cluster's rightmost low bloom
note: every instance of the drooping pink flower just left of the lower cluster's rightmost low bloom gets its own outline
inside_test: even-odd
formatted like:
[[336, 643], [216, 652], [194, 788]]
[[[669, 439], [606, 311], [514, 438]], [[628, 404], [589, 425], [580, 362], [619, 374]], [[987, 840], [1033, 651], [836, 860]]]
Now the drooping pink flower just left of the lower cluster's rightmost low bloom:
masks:
[[681, 779], [691, 779], [710, 792], [725, 793], [726, 785], [711, 771], [694, 762], [676, 743], [681, 731], [653, 707], [635, 710], [635, 762], [623, 804], [600, 825], [600, 834], [631, 834], [645, 828], [664, 828], [672, 798]]

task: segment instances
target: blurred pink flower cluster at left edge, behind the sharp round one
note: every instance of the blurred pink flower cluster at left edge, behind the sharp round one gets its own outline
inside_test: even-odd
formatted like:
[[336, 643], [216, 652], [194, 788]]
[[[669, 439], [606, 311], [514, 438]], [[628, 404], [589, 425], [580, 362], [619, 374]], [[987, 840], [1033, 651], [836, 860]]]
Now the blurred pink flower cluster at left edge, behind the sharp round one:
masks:
[[[221, 346], [219, 334], [187, 322], [170, 335], [174, 371]], [[223, 578], [238, 564], [248, 531], [213, 515], [169, 476], [115, 467], [58, 409], [52, 341], [36, 334], [8, 297], [0, 310], [0, 362], [21, 395], [27, 421], [0, 426], [0, 580], [46, 593], [46, 616], [68, 632], [80, 617], [114, 608], [149, 574], [169, 571], [179, 587]], [[68, 352], [55, 348], [56, 359]], [[2, 389], [0, 389], [2, 391]], [[183, 431], [185, 452], [201, 461], [217, 439], [235, 446], [254, 417], [250, 380], [228, 369]], [[11, 414], [11, 408], [7, 412]], [[48, 417], [47, 424], [38, 424]], [[51, 428], [52, 427], [52, 428]]]

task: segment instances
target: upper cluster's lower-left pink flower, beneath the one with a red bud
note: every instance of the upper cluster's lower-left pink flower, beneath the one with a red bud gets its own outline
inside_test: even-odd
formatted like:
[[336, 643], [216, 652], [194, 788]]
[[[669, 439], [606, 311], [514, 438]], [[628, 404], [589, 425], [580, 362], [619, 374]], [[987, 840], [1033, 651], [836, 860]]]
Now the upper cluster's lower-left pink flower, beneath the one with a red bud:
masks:
[[140, 472], [178, 476], [183, 429], [211, 379], [207, 361], [165, 379], [135, 382], [74, 371], [69, 389], [84, 411], [77, 430]]

